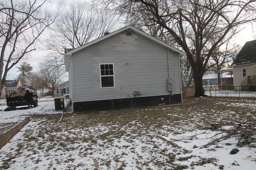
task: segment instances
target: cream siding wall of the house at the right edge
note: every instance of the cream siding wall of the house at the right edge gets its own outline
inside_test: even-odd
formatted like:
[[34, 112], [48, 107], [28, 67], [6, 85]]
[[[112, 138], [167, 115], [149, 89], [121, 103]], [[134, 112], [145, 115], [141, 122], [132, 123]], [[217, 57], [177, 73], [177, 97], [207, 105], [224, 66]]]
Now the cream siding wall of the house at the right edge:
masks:
[[238, 65], [233, 67], [234, 86], [241, 86], [241, 82], [247, 77], [243, 77], [243, 69], [246, 68], [246, 76], [256, 75], [256, 68], [251, 68], [254, 64]]

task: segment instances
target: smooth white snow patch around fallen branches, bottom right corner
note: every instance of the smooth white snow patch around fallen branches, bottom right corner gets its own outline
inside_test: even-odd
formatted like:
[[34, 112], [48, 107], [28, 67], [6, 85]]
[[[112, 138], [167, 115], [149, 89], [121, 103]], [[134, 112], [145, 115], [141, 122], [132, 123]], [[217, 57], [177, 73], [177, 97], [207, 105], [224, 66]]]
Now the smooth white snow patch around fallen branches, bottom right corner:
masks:
[[[229, 154], [233, 148], [237, 148], [235, 144], [237, 143], [236, 137], [221, 141], [217, 145], [210, 145], [207, 148], [200, 148], [211, 140], [224, 135], [216, 135], [220, 131], [196, 131], [196, 132], [186, 132], [182, 135], [170, 135], [165, 137], [167, 140], [176, 140], [176, 144], [180, 147], [191, 150], [190, 155], [201, 156], [202, 158], [216, 158], [219, 165], [224, 165], [224, 169], [231, 170], [253, 170], [256, 166], [256, 148], [251, 147], [239, 147], [239, 152], [237, 154]], [[198, 134], [198, 135], [197, 135]], [[228, 144], [228, 145], [227, 145]], [[188, 156], [189, 154], [182, 154], [180, 157]], [[240, 166], [234, 166], [232, 163], [236, 161]], [[191, 160], [187, 161], [188, 166]], [[196, 162], [196, 160], [194, 160]], [[183, 163], [176, 161], [176, 163]], [[194, 166], [194, 170], [215, 170], [218, 167], [214, 164], [204, 164], [204, 166]]]

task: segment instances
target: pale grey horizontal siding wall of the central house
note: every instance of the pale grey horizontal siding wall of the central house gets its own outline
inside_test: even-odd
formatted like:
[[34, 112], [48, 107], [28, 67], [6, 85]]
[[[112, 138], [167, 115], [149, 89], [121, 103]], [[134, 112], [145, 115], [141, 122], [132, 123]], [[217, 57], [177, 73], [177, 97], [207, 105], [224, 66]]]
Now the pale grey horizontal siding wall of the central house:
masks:
[[[72, 54], [72, 102], [168, 95], [167, 48], [135, 32], [113, 35]], [[179, 57], [169, 49], [173, 93], [181, 94]], [[114, 64], [114, 88], [100, 88], [99, 64]]]

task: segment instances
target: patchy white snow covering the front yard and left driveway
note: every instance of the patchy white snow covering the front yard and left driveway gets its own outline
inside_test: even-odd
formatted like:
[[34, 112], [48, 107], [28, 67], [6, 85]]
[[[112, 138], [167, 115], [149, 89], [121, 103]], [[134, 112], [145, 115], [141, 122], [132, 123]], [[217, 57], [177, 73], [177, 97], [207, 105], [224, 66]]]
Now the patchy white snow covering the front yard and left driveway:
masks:
[[[233, 92], [227, 93], [232, 94]], [[222, 96], [224, 93], [220, 92], [218, 95]], [[122, 120], [122, 117], [120, 122], [104, 122], [104, 119], [108, 117], [104, 112], [95, 113], [99, 115], [93, 118], [90, 115], [82, 115], [82, 119], [75, 119], [80, 116], [77, 114], [69, 115], [60, 123], [54, 117], [52, 120], [46, 118], [32, 119], [11, 139], [10, 143], [0, 149], [0, 169], [156, 170], [188, 168], [217, 170], [224, 168], [225, 170], [254, 170], [256, 167], [255, 147], [236, 147], [238, 136], [233, 136], [216, 145], [200, 148], [200, 146], [224, 134], [217, 135], [220, 131], [196, 128], [196, 124], [199, 122], [198, 115], [200, 117], [214, 115], [215, 121], [221, 122], [224, 117], [230, 116], [232, 119], [232, 117], [239, 116], [240, 112], [246, 111], [245, 114], [248, 117], [255, 118], [256, 100], [253, 95], [252, 93], [244, 94], [244, 97], [252, 97], [252, 100], [246, 99], [245, 102], [234, 100], [230, 103], [216, 103], [226, 106], [226, 111], [222, 111], [222, 113], [217, 113], [218, 108], [216, 106], [216, 108], [206, 107], [205, 110], [202, 109], [203, 107], [188, 107], [186, 108], [188, 115], [193, 117], [190, 120], [179, 114], [182, 106], [135, 109], [133, 112], [136, 114], [131, 113], [132, 116], [135, 115], [135, 118], [124, 124], [120, 124], [120, 122], [125, 121]], [[54, 109], [52, 99], [40, 99], [38, 107], [16, 111], [3, 111], [6, 108], [4, 101], [1, 101], [0, 104], [0, 109], [2, 109], [0, 111], [0, 123], [20, 122], [31, 115], [62, 113], [62, 111]], [[233, 108], [236, 106], [242, 109]], [[162, 124], [157, 128], [154, 125], [155, 119], [152, 123], [152, 118], [143, 114], [148, 110], [157, 111], [159, 114], [164, 112], [166, 117], [168, 116], [170, 119], [177, 117], [178, 126], [171, 126], [168, 124], [170, 119], [159, 117], [156, 120]], [[140, 122], [136, 116], [145, 117], [148, 124], [146, 124], [147, 122]], [[58, 119], [58, 115], [56, 117]], [[81, 122], [82, 126], [76, 126]], [[185, 122], [188, 124], [183, 124]], [[233, 148], [239, 149], [239, 152], [229, 154]]]

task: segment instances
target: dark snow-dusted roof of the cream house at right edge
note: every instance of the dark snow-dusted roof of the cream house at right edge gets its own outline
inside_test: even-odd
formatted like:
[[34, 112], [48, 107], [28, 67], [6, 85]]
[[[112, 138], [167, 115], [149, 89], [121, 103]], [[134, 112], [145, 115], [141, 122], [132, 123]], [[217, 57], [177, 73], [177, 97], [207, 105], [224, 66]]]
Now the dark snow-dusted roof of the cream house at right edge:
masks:
[[256, 63], [256, 40], [244, 44], [231, 66]]

